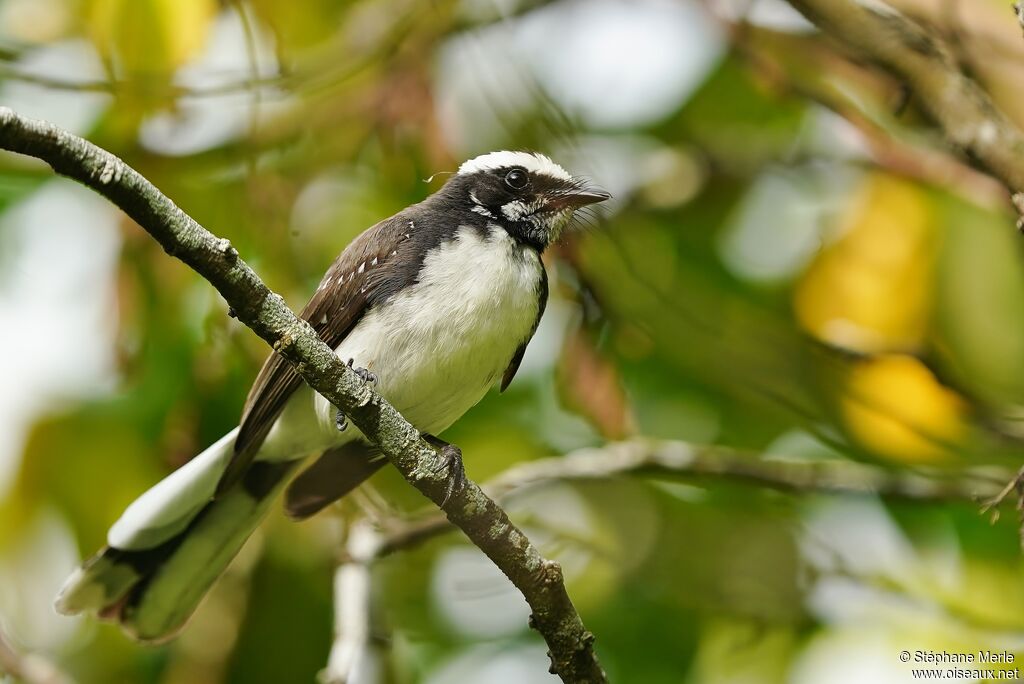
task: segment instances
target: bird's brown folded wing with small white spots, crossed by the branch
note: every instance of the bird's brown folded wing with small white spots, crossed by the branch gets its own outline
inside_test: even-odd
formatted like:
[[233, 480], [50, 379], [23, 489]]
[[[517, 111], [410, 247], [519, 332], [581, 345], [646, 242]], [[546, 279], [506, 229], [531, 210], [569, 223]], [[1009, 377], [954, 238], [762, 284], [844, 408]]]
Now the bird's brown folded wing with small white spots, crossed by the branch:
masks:
[[[406, 212], [362, 232], [335, 260], [316, 293], [300, 313], [330, 347], [337, 347], [367, 308], [415, 277], [418, 261], [410, 254], [413, 222]], [[415, 267], [411, 268], [410, 266]], [[223, 491], [246, 471], [302, 378], [281, 354], [263, 364], [242, 413], [234, 455], [217, 485]]]

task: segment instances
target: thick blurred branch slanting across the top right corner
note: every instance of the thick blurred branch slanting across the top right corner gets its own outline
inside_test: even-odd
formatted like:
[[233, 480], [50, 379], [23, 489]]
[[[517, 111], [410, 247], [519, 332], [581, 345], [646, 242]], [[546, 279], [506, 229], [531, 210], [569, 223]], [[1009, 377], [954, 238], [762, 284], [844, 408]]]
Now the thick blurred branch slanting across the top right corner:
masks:
[[833, 38], [906, 83], [946, 138], [1002, 181], [1024, 190], [1024, 134], [961, 72], [939, 37], [882, 0], [788, 0]]

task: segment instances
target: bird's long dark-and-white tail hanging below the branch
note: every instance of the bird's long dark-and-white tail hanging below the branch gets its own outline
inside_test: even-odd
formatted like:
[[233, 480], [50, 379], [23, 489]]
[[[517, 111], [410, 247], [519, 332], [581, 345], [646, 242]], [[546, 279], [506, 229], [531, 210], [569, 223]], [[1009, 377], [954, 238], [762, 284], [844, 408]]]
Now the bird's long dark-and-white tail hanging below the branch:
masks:
[[108, 546], [65, 583], [56, 609], [116, 619], [132, 636], [172, 636], [266, 514], [297, 462], [254, 462], [233, 487], [217, 481], [233, 451], [230, 432], [124, 512]]

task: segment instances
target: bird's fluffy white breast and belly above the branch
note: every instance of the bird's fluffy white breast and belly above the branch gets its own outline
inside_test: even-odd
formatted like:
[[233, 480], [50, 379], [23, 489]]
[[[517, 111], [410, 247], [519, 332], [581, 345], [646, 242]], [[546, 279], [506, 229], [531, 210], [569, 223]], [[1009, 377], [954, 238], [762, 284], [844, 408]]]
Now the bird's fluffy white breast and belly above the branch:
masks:
[[[537, 318], [543, 264], [493, 226], [468, 226], [427, 253], [412, 285], [371, 310], [337, 348], [373, 371], [378, 391], [436, 434], [483, 398]], [[317, 395], [322, 424], [334, 410]]]

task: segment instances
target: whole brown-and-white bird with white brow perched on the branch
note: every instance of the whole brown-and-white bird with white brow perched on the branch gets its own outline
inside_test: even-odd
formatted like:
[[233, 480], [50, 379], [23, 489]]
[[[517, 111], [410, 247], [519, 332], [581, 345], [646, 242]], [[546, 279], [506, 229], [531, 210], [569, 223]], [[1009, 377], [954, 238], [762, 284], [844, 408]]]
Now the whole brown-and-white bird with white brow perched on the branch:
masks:
[[[434, 445], [462, 486], [462, 455], [437, 435], [522, 361], [548, 299], [541, 255], [573, 212], [610, 198], [534, 152], [463, 163], [424, 201], [355, 238], [302, 309], [316, 334]], [[115, 621], [144, 642], [176, 635], [284, 491], [307, 518], [386, 459], [272, 352], [238, 427], [131, 503], [55, 608]]]

